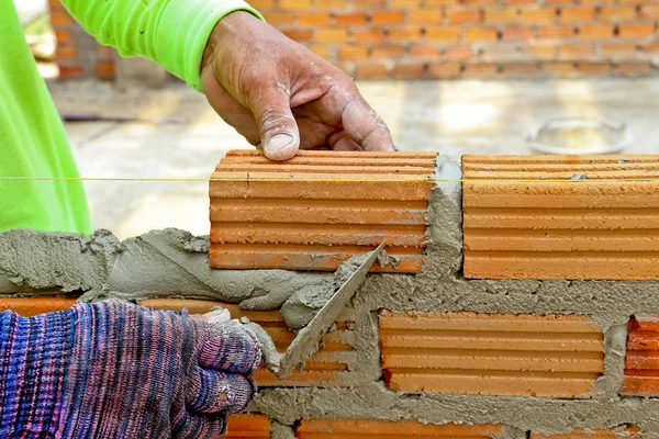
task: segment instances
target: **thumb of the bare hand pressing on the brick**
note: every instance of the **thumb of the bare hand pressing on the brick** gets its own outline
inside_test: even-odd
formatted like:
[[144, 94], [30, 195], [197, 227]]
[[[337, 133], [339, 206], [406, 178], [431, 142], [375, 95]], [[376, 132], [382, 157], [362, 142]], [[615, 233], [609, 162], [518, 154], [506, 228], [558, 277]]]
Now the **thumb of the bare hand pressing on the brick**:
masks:
[[264, 153], [270, 160], [288, 160], [300, 148], [300, 131], [290, 97], [280, 90], [261, 95], [254, 108]]

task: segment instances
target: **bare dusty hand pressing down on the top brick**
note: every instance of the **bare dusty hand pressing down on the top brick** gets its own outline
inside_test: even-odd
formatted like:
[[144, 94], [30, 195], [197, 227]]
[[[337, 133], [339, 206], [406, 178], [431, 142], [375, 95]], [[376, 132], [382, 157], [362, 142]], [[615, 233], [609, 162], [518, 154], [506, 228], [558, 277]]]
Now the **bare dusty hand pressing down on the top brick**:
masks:
[[389, 128], [343, 70], [249, 12], [217, 23], [201, 85], [217, 114], [271, 160], [323, 146], [395, 150]]

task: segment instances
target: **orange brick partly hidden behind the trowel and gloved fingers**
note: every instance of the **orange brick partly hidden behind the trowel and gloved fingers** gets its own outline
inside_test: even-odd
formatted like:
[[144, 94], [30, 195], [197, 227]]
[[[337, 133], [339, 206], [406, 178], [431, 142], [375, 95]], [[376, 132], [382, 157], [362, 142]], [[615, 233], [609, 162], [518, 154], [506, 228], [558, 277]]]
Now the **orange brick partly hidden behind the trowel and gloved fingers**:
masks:
[[[264, 327], [272, 337], [275, 346], [284, 352], [295, 338], [295, 334], [288, 329], [279, 311], [243, 311], [235, 304], [213, 301], [154, 299], [139, 302], [139, 305], [156, 309], [181, 311], [183, 307], [189, 314], [204, 314], [213, 306], [222, 306], [231, 313], [232, 318], [247, 317]], [[350, 345], [354, 334], [348, 326], [355, 319], [355, 312], [347, 308], [336, 322], [336, 329], [323, 336], [323, 347], [314, 353], [304, 365], [297, 370], [286, 381], [280, 381], [261, 364], [254, 379], [259, 386], [299, 386], [325, 385], [337, 383], [349, 365], [356, 362], [356, 353]]]

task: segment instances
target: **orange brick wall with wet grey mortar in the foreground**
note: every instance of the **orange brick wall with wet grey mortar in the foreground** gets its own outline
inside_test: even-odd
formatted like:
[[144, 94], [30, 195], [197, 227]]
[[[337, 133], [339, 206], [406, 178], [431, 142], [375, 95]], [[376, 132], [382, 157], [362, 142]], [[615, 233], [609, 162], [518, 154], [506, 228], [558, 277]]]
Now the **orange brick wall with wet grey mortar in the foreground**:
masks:
[[[257, 372], [259, 395], [232, 417], [230, 438], [659, 437], [659, 156], [465, 156], [459, 166], [428, 153], [309, 151], [281, 164], [235, 151], [210, 198], [210, 254], [199, 238], [145, 235], [136, 252], [118, 241], [97, 270], [90, 238], [67, 236], [51, 246], [72, 256], [43, 284], [30, 282], [29, 261], [44, 249], [29, 246], [51, 238], [25, 239], [23, 260], [10, 243], [26, 235], [0, 234], [0, 309], [66, 308], [75, 297], [54, 297], [54, 285], [92, 270], [104, 297], [191, 313], [222, 305], [283, 351], [294, 337], [283, 308], [193, 297], [226, 270], [241, 282], [265, 275], [247, 299], [275, 293], [282, 273], [333, 279], [336, 261], [387, 238], [390, 258], [310, 361], [286, 381]], [[462, 263], [444, 263], [456, 246]], [[125, 270], [139, 278], [152, 263], [161, 283], [125, 283]]]

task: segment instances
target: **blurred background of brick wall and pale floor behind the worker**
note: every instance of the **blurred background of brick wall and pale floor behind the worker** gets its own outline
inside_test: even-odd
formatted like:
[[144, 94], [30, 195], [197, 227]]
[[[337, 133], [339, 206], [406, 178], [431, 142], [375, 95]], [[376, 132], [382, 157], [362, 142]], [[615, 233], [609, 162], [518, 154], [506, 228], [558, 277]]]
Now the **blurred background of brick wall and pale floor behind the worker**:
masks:
[[[402, 150], [659, 153], [659, 0], [250, 3], [355, 78]], [[58, 0], [16, 5], [83, 177], [208, 178], [252, 148], [203, 95], [99, 45]], [[121, 238], [209, 232], [205, 182], [87, 191], [96, 227]]]

